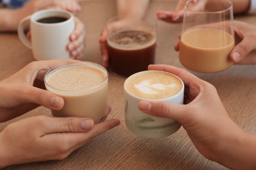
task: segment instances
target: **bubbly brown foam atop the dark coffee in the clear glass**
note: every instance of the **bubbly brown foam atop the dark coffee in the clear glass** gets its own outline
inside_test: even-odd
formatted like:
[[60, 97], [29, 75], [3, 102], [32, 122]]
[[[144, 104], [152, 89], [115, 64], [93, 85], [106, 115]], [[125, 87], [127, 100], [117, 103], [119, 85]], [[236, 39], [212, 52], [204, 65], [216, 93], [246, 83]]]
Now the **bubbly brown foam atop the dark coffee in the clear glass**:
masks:
[[155, 44], [156, 34], [144, 29], [121, 29], [112, 33], [107, 42], [109, 46], [119, 50], [140, 50]]

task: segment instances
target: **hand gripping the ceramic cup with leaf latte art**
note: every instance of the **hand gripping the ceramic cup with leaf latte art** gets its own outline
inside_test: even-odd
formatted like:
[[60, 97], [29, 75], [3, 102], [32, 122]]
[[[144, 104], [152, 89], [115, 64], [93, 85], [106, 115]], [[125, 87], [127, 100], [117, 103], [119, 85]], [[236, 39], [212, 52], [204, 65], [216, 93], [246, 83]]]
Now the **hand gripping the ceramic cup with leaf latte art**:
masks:
[[[226, 158], [235, 157], [234, 145], [240, 144], [245, 132], [230, 119], [215, 87], [184, 69], [168, 65], [150, 65], [148, 69], [179, 76], [185, 85], [186, 105], [140, 101], [140, 110], [180, 122], [199, 152], [209, 160], [223, 163]], [[244, 144], [240, 147], [244, 148]]]

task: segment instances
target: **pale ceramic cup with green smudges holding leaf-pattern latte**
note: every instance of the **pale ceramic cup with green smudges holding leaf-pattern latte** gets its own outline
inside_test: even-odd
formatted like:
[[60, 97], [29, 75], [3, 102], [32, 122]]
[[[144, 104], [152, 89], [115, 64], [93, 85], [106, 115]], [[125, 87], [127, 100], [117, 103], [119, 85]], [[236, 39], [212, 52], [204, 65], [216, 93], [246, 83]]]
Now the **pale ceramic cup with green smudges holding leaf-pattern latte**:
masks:
[[138, 107], [141, 100], [183, 104], [184, 83], [172, 73], [141, 71], [129, 76], [124, 83], [124, 99], [125, 124], [139, 136], [167, 137], [181, 127], [175, 120], [150, 116]]

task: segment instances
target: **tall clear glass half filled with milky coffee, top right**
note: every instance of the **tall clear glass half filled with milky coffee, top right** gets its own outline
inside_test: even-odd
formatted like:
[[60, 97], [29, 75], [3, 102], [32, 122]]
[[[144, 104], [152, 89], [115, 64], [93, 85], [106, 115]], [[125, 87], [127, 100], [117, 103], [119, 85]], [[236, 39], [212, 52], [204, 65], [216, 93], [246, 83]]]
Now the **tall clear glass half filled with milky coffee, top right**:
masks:
[[215, 73], [232, 66], [233, 7], [230, 0], [187, 1], [182, 24], [179, 59], [184, 67]]

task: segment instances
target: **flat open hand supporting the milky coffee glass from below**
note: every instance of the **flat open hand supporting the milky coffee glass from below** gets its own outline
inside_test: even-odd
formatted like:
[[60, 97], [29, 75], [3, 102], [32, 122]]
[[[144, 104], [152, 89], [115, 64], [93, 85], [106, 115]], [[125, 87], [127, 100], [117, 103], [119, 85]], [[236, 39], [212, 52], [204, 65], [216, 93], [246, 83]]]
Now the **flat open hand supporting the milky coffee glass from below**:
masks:
[[0, 168], [35, 161], [63, 160], [90, 139], [119, 124], [119, 120], [114, 119], [94, 124], [91, 118], [44, 115], [18, 120], [0, 133]]

